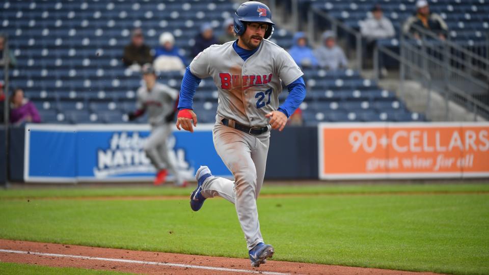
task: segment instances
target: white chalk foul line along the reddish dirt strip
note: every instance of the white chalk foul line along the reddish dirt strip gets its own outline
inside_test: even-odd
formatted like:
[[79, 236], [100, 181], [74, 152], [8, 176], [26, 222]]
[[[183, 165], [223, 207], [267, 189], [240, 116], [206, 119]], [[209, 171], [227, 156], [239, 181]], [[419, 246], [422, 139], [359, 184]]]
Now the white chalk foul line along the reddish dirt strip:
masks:
[[52, 257], [66, 257], [66, 258], [99, 260], [99, 261], [111, 261], [111, 262], [123, 262], [123, 263], [166, 265], [166, 266], [174, 266], [174, 267], [210, 269], [210, 270], [219, 270], [219, 271], [228, 271], [228, 272], [243, 272], [243, 273], [270, 274], [270, 275], [287, 275], [288, 274], [288, 273], [271, 272], [271, 271], [255, 271], [255, 270], [247, 270], [247, 269], [233, 269], [233, 268], [191, 265], [191, 264], [158, 263], [158, 262], [147, 262], [147, 261], [137, 261], [137, 260], [111, 259], [111, 258], [99, 258], [99, 257], [65, 255], [65, 254], [51, 254], [51, 253], [30, 252], [30, 251], [28, 252], [28, 251], [6, 250], [6, 249], [0, 249], [0, 252], [17, 253], [17, 254], [32, 254], [32, 255], [52, 256]]

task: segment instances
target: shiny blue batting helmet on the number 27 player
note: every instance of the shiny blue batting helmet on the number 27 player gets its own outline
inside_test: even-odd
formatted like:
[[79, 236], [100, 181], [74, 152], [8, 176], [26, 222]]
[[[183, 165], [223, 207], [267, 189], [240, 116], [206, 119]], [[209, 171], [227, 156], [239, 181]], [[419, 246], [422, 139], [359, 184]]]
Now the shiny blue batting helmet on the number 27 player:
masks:
[[237, 36], [244, 34], [246, 24], [243, 22], [265, 22], [268, 29], [265, 32], [265, 39], [271, 37], [274, 32], [275, 23], [271, 21], [270, 9], [263, 3], [257, 1], [244, 2], [239, 6], [234, 14], [234, 33]]

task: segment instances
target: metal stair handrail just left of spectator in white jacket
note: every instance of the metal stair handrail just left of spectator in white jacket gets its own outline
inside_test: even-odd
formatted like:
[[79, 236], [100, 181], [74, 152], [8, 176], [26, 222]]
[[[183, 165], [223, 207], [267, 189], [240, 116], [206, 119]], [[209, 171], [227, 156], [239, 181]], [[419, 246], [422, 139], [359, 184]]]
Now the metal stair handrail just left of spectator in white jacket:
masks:
[[[363, 53], [363, 47], [362, 47], [362, 35], [357, 32], [355, 29], [352, 29], [350, 26], [346, 25], [345, 23], [341, 22], [340, 20], [332, 17], [328, 13], [325, 13], [324, 11], [311, 6], [311, 8], [308, 11], [307, 14], [307, 30], [308, 30], [308, 40], [309, 41], [317, 41], [318, 39], [320, 40], [320, 36], [323, 31], [325, 30], [318, 30], [318, 24], [316, 24], [316, 17], [320, 17], [322, 20], [325, 20], [327, 24], [322, 25], [325, 27], [325, 30], [331, 30], [336, 34], [336, 37], [338, 37], [338, 31], [341, 31], [342, 34], [346, 34], [347, 36], [351, 36], [355, 39], [355, 43], [348, 43], [351, 41], [347, 41], [343, 47], [345, 50], [345, 53], [351, 63], [352, 60], [354, 60], [354, 67], [355, 69], [361, 71], [362, 70], [362, 53]], [[348, 40], [348, 37], [346, 37]], [[322, 43], [322, 41], [321, 41]], [[354, 44], [354, 45], [351, 45]], [[354, 58], [354, 59], [352, 59]], [[351, 64], [350, 64], [351, 65]]]

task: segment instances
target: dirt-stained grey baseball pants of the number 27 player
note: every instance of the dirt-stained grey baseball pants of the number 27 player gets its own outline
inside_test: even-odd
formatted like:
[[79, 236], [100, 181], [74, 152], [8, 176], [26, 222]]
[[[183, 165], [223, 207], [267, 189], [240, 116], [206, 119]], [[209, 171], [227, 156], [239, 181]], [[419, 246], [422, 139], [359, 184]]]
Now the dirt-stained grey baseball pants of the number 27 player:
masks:
[[215, 150], [233, 174], [234, 181], [209, 177], [202, 185], [201, 194], [205, 198], [219, 196], [235, 205], [248, 250], [251, 250], [263, 242], [256, 199], [265, 176], [270, 131], [251, 135], [215, 124], [212, 136]]

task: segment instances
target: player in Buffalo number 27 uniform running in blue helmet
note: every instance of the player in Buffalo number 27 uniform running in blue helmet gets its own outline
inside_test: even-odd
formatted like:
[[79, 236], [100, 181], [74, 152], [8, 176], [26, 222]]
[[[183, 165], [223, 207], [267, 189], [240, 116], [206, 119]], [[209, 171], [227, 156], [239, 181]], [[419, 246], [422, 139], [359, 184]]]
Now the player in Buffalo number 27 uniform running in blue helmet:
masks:
[[[268, 7], [243, 3], [234, 14], [238, 39], [212, 45], [198, 54], [183, 76], [176, 126], [193, 131], [197, 115], [193, 96], [202, 78], [211, 76], [219, 90], [218, 111], [212, 134], [216, 152], [234, 181], [214, 177], [208, 167], [196, 173], [197, 188], [191, 207], [198, 211], [207, 198], [222, 197], [236, 207], [252, 266], [274, 254], [260, 232], [256, 199], [265, 175], [270, 129], [282, 130], [306, 95], [302, 71], [287, 51], [266, 40], [274, 23]], [[289, 95], [279, 106], [282, 83]]]

